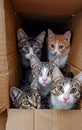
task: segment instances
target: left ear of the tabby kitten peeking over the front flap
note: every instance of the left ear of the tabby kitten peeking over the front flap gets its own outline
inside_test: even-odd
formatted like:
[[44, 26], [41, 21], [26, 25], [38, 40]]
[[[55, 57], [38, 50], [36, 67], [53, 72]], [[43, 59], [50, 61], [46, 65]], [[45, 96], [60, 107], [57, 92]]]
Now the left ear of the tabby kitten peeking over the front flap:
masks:
[[10, 97], [12, 101], [14, 101], [16, 98], [19, 98], [22, 94], [22, 91], [16, 87], [10, 88]]

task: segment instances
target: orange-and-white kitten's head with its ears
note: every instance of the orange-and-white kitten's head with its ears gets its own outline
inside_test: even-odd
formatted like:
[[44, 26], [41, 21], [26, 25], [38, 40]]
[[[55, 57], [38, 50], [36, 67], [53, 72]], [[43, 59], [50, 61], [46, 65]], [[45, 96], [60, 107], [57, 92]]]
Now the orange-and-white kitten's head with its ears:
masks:
[[60, 56], [69, 52], [70, 49], [70, 31], [63, 35], [55, 35], [50, 29], [48, 30], [48, 49], [53, 56]]

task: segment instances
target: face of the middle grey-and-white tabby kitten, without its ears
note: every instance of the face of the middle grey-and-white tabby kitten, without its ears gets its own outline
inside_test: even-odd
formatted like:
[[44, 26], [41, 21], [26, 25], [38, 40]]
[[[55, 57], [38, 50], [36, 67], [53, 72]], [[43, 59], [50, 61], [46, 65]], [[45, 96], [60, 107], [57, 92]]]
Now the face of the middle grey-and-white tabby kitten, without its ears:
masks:
[[38, 82], [42, 86], [47, 86], [52, 82], [52, 69], [50, 68], [48, 63], [38, 64], [33, 72], [33, 77], [38, 78]]

